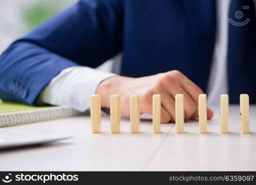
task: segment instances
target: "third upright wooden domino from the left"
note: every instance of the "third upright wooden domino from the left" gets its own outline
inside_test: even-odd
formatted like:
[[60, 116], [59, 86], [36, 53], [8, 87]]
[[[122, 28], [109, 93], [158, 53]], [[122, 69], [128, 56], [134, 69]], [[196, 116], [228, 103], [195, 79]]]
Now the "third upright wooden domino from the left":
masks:
[[139, 133], [140, 111], [139, 95], [130, 96], [130, 130], [131, 133]]

